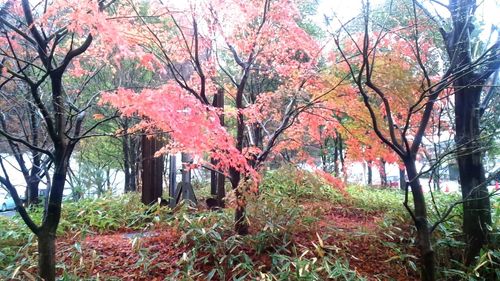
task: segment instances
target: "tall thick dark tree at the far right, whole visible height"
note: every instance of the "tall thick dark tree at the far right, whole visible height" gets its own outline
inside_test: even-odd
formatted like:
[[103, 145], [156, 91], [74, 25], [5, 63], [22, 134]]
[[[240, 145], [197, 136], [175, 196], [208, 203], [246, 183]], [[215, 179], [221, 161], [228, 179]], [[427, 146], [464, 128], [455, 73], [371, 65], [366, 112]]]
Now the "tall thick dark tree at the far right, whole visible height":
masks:
[[453, 82], [455, 97], [455, 143], [464, 216], [463, 230], [467, 247], [465, 264], [469, 265], [488, 241], [491, 225], [490, 196], [486, 188], [481, 141], [481, 94], [489, 77], [500, 68], [500, 38], [483, 50], [474, 50], [475, 0], [451, 0], [451, 29], [441, 27], [449, 64], [454, 72], [464, 73]]

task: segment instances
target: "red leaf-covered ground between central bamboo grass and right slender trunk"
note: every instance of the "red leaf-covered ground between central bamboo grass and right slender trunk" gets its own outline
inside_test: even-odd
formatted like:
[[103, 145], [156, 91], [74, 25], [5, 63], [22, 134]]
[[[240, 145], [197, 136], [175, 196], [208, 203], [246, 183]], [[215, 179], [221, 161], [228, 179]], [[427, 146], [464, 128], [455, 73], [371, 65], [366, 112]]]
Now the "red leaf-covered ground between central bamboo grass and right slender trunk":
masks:
[[[325, 245], [333, 246], [343, 256], [351, 269], [368, 280], [418, 280], [418, 275], [407, 269], [398, 258], [397, 250], [391, 243], [401, 243], [398, 237], [385, 233], [380, 227], [383, 214], [366, 212], [348, 206], [325, 207], [328, 203], [307, 204], [305, 208], [321, 208], [323, 216], [316, 224], [317, 232], [327, 236]], [[399, 229], [399, 228], [398, 228]], [[404, 235], [407, 235], [405, 233]], [[408, 249], [414, 251], [414, 249]], [[416, 261], [415, 261], [416, 262]]]

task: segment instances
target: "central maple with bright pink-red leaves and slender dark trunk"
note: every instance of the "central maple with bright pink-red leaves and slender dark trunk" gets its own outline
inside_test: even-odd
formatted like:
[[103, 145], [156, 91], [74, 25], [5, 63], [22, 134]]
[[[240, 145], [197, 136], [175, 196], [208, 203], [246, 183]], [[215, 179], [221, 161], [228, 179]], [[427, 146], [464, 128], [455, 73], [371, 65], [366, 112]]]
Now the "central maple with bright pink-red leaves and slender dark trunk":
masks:
[[[311, 105], [307, 93], [318, 87], [313, 78], [319, 47], [297, 25], [300, 13], [290, 1], [150, 5], [149, 14], [134, 8], [141, 20], [137, 32], [154, 54], [142, 63], [165, 73], [166, 81], [138, 93], [119, 89], [103, 101], [126, 116], [146, 117], [140, 128], [169, 133], [170, 143], [160, 152], [187, 152], [195, 165], [226, 173], [237, 198], [235, 227], [245, 234], [245, 182], [258, 181], [255, 171], [280, 135]], [[231, 102], [217, 108], [210, 101], [219, 90]], [[271, 100], [279, 105], [270, 106]], [[221, 125], [221, 114], [235, 119], [234, 134]]]

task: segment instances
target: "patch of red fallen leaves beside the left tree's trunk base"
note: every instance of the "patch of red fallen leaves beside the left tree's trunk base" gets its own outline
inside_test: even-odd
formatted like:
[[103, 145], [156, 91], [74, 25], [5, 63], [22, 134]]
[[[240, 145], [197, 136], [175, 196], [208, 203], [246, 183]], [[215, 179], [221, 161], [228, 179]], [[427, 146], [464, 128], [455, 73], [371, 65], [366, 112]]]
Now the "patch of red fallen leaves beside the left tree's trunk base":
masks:
[[[177, 246], [179, 234], [171, 229], [138, 233], [94, 235], [76, 249], [73, 239], [58, 243], [59, 260], [68, 268], [79, 268], [78, 276], [113, 276], [116, 280], [163, 280], [176, 269], [186, 251]], [[84, 263], [84, 264], [82, 264]], [[84, 270], [82, 271], [82, 267]]]

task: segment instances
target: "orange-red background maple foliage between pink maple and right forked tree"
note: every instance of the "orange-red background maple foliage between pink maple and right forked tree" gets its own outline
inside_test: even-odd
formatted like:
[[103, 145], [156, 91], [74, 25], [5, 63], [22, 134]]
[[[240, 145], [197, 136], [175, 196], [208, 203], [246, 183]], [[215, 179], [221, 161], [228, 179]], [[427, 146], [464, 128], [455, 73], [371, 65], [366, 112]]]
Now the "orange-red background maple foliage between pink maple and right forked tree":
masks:
[[[321, 166], [336, 177], [340, 177], [342, 168], [344, 182], [346, 168], [352, 163], [366, 161], [370, 163], [369, 171], [373, 166], [383, 174], [382, 163], [396, 163], [397, 155], [383, 142], [374, 141], [377, 136], [372, 130], [370, 116], [363, 110], [363, 103], [345, 77], [328, 73], [323, 79], [325, 87], [332, 91], [327, 94], [320, 92], [319, 102], [298, 118], [285, 133], [286, 137], [277, 150], [293, 153], [293, 161], [308, 163], [312, 167]], [[330, 151], [331, 144], [333, 151]], [[318, 158], [321, 158], [321, 164], [316, 163]]]

